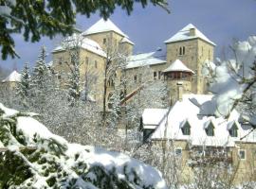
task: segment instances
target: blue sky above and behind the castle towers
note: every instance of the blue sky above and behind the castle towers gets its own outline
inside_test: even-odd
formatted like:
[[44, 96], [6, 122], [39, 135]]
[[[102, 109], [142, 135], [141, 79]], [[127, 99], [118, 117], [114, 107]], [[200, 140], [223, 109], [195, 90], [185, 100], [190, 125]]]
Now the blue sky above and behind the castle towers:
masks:
[[[136, 43], [135, 53], [154, 51], [157, 47], [164, 51], [163, 42], [190, 23], [217, 44], [216, 56], [222, 55], [224, 47], [229, 46], [232, 39], [243, 41], [249, 35], [256, 35], [255, 0], [172, 0], [169, 3], [171, 14], [159, 7], [142, 9], [136, 4], [130, 16], [116, 9], [110, 19]], [[77, 26], [85, 30], [99, 19], [97, 13], [90, 18], [78, 16]], [[33, 64], [37, 60], [42, 45], [46, 45], [47, 60], [50, 60], [50, 51], [61, 39], [58, 36], [53, 40], [42, 38], [39, 43], [26, 43], [21, 34], [13, 38], [21, 59], [0, 60], [0, 66], [17, 67], [18, 70], [22, 69], [24, 62]]]

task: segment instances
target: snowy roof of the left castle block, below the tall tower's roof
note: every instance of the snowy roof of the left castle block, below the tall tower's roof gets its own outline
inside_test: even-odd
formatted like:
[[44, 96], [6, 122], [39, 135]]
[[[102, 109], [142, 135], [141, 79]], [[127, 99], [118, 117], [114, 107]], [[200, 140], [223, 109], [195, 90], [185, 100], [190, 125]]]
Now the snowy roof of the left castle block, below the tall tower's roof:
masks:
[[72, 48], [75, 46], [81, 46], [82, 48], [91, 51], [95, 54], [100, 55], [101, 57], [106, 57], [106, 53], [102, 50], [101, 46], [99, 43], [82, 37], [81, 34], [73, 34], [72, 36], [66, 38], [64, 40], [64, 43], [62, 43], [61, 45], [57, 46], [56, 48], [53, 49], [52, 53], [54, 52], [59, 52], [59, 51], [63, 51], [64, 48], [68, 47], [68, 48]]

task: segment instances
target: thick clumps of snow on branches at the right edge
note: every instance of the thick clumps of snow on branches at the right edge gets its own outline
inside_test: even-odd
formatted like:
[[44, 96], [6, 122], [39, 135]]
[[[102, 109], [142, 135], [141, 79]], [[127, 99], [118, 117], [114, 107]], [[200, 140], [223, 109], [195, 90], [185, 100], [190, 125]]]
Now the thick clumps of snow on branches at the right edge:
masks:
[[231, 50], [233, 58], [205, 64], [204, 74], [209, 76], [210, 92], [214, 94], [211, 111], [229, 116], [236, 109], [241, 121], [256, 128], [256, 37], [233, 43]]

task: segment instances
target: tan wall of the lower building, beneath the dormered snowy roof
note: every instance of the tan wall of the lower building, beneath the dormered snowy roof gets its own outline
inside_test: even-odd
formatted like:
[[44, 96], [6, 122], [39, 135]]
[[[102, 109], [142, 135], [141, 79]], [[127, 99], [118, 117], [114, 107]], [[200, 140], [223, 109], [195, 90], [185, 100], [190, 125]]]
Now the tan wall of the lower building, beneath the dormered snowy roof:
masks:
[[[192, 180], [194, 176], [200, 177], [204, 181], [204, 177], [209, 177], [208, 174], [214, 174], [217, 176], [215, 180], [223, 180], [227, 184], [230, 181], [230, 184], [234, 185], [256, 180], [255, 144], [236, 143], [235, 147], [229, 148], [216, 148], [216, 146], [208, 146], [209, 152], [212, 151], [212, 153], [216, 149], [219, 151], [228, 150], [226, 154], [215, 156], [210, 156], [208, 153], [205, 153], [203, 156], [200, 155], [198, 152], [200, 152], [204, 146], [190, 146], [185, 140], [173, 140], [169, 142], [166, 140], [154, 140], [153, 144], [161, 149], [162, 153], [165, 153], [166, 164], [173, 164], [173, 169], [175, 168], [174, 174], [176, 174], [179, 184], [192, 183], [194, 181]], [[175, 149], [177, 148], [182, 150], [181, 154], [179, 155], [175, 153]], [[241, 160], [239, 158], [238, 151], [241, 149], [246, 150], [245, 160]], [[223, 162], [223, 165], [219, 168], [219, 170], [211, 167], [211, 165], [218, 162]], [[229, 163], [230, 166], [225, 168], [225, 163]], [[201, 174], [198, 174], [198, 170], [195, 171], [196, 168], [206, 168], [206, 166], [206, 173], [203, 172], [203, 169], [201, 169]], [[212, 181], [214, 181], [214, 177], [212, 178]]]

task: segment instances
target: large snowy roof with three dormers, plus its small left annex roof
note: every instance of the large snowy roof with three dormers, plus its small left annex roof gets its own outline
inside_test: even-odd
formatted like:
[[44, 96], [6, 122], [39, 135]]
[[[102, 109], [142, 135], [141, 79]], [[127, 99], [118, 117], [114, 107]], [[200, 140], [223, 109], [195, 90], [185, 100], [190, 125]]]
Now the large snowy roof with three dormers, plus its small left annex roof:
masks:
[[[200, 106], [209, 102], [211, 98], [210, 94], [184, 94], [182, 101], [177, 101], [168, 115], [166, 115], [167, 109], [158, 110], [157, 114], [154, 109], [145, 110], [147, 115], [142, 115], [143, 123], [150, 125], [155, 124], [155, 120], [161, 120], [151, 139], [187, 140], [192, 146], [235, 146], [235, 143], [240, 141], [256, 143], [256, 131], [249, 133], [251, 130], [249, 126], [237, 122], [240, 116], [238, 112], [231, 112], [228, 119], [201, 112]], [[197, 104], [194, 103], [195, 101]], [[189, 122], [191, 126], [190, 135], [182, 133], [181, 125], [185, 122]], [[208, 136], [205, 130], [210, 123], [214, 126], [214, 136]], [[238, 128], [238, 137], [231, 137], [229, 134], [232, 123]], [[147, 129], [147, 125], [144, 129]], [[244, 136], [247, 137], [241, 140]]]

